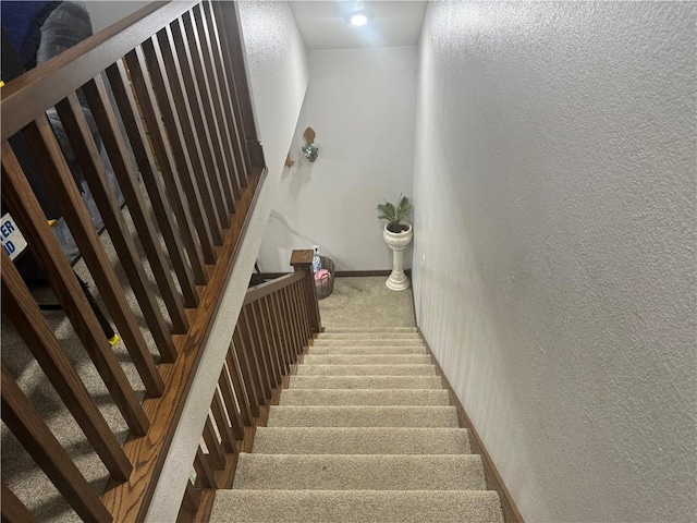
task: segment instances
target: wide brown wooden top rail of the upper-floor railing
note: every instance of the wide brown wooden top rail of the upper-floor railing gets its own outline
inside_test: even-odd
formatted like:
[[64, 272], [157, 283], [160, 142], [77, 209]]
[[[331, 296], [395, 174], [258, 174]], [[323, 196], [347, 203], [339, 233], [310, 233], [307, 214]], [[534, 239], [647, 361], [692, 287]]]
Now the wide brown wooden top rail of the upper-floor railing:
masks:
[[197, 0], [152, 2], [5, 85], [0, 137], [8, 139], [49, 107], [197, 4]]

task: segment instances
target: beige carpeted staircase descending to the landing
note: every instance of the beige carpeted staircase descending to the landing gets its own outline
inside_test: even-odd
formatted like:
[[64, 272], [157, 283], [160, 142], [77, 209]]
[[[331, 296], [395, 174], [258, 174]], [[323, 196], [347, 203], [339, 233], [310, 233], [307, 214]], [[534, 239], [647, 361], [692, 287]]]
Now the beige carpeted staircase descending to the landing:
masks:
[[503, 522], [415, 328], [333, 328], [240, 454], [211, 522]]

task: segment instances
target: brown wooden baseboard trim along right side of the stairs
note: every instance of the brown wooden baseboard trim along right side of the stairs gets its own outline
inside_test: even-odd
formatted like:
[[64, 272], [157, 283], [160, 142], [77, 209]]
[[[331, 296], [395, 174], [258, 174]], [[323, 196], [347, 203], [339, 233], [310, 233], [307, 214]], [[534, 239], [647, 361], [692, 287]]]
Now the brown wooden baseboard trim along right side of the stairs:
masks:
[[[421, 338], [424, 338], [424, 335], [421, 333], [421, 329], [418, 327], [417, 329], [421, 335]], [[424, 338], [424, 343], [426, 344], [426, 351], [431, 356], [433, 365], [436, 366], [436, 372], [440, 376], [440, 379], [443, 386], [448, 389], [448, 394], [450, 396], [450, 404], [455, 406], [455, 409], [457, 410], [457, 418], [460, 419], [460, 426], [462, 428], [466, 428], [467, 431], [469, 433], [469, 446], [472, 447], [472, 453], [481, 455], [481, 461], [484, 462], [484, 475], [487, 481], [487, 488], [489, 490], [496, 490], [497, 492], [499, 492], [499, 497], [501, 498], [501, 510], [503, 511], [503, 521], [505, 523], [525, 523], [525, 521], [523, 520], [523, 515], [521, 514], [521, 511], [516, 507], [515, 501], [511, 496], [511, 492], [509, 491], [505, 484], [503, 483], [503, 478], [501, 477], [501, 474], [499, 474], [497, 466], [493, 464], [493, 460], [491, 460], [491, 455], [489, 455], [489, 452], [487, 451], [487, 448], [484, 446], [484, 442], [481, 441], [481, 438], [479, 437], [477, 429], [472, 424], [472, 419], [469, 419], [469, 416], [467, 415], [465, 408], [460, 402], [460, 399], [455, 394], [455, 391], [450, 385], [450, 381], [445, 377], [445, 373], [443, 373], [443, 369], [441, 368], [440, 363], [438, 362], [438, 358], [433, 354], [433, 351], [431, 350], [430, 345], [428, 344], [428, 341], [426, 341], [425, 338]]]

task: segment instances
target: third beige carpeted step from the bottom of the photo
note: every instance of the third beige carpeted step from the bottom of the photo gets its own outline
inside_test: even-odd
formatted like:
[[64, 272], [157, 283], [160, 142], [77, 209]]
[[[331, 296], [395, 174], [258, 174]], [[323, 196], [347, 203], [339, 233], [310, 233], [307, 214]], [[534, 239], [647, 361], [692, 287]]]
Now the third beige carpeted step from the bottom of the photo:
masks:
[[465, 428], [258, 427], [254, 453], [468, 454]]

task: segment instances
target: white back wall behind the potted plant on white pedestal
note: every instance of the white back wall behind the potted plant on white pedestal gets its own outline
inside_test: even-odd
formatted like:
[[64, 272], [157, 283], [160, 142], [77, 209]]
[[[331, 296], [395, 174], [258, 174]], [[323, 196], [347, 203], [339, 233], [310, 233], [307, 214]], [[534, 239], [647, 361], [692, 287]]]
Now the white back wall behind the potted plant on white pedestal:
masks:
[[[310, 83], [261, 247], [262, 270], [288, 271], [293, 248], [320, 245], [337, 270], [391, 268], [376, 206], [412, 195], [415, 47], [309, 51]], [[307, 126], [319, 157], [301, 155]], [[288, 149], [283, 151], [283, 157]]]

